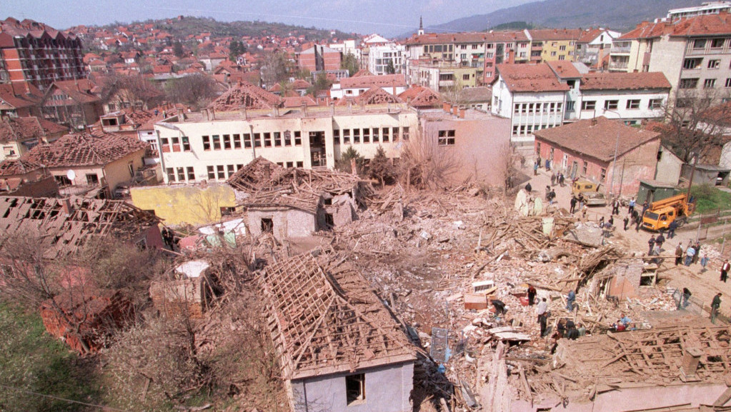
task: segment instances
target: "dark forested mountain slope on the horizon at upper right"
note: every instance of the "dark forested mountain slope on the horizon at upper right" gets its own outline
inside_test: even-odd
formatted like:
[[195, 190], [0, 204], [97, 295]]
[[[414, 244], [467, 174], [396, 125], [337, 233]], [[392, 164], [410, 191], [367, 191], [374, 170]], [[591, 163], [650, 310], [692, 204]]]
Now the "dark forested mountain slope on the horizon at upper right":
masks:
[[[549, 28], [609, 27], [629, 31], [643, 20], [667, 15], [668, 9], [700, 5], [708, 0], [545, 0], [499, 9], [487, 15], [459, 18], [425, 31], [485, 31], [513, 22]], [[409, 36], [407, 34], [406, 36]]]

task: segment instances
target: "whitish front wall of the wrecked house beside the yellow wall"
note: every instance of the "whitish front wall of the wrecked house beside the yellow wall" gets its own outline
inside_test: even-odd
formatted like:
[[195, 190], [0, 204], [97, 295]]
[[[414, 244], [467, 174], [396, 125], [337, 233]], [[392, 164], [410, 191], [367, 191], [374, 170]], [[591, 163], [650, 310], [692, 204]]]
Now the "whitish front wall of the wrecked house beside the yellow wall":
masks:
[[317, 216], [296, 209], [258, 209], [249, 210], [247, 224], [252, 237], [262, 234], [262, 219], [272, 219], [274, 237], [285, 240], [289, 237], [307, 237], [317, 230]]

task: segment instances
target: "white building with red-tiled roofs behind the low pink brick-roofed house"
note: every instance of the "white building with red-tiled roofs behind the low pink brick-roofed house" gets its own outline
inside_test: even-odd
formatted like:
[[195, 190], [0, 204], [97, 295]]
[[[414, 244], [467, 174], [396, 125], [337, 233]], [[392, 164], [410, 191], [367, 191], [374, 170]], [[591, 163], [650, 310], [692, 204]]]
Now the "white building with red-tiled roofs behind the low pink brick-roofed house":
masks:
[[512, 142], [526, 145], [535, 131], [579, 120], [661, 118], [670, 82], [661, 72], [582, 73], [569, 61], [501, 64], [492, 93], [493, 114], [510, 118]]

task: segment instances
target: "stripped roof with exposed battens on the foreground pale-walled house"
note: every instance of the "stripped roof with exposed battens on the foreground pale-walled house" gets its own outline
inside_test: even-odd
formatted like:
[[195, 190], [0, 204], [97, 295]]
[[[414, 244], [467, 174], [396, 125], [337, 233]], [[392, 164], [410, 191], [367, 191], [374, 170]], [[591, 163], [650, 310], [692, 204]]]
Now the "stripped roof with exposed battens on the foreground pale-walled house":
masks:
[[270, 264], [262, 283], [284, 378], [415, 359], [404, 330], [349, 264], [323, 267], [306, 253]]

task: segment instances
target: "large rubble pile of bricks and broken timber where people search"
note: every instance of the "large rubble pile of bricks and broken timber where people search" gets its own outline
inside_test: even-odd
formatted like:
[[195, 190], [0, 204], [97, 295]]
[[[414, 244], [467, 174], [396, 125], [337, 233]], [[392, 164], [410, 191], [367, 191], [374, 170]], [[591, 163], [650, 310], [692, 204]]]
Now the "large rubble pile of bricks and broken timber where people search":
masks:
[[[503, 200], [479, 194], [477, 188], [461, 188], [450, 196], [410, 194], [397, 186], [371, 198], [357, 221], [336, 228], [331, 243], [365, 269], [425, 351], [432, 349], [433, 328], [450, 331], [444, 375], [455, 389], [444, 402], [453, 403], [452, 410], [474, 408], [475, 394], [482, 402], [504, 401], [486, 392], [494, 369], [489, 359], [498, 347], [504, 351], [499, 362], [507, 371], [506, 382], [518, 388], [518, 398], [566, 398], [572, 381], [556, 375], [550, 365], [551, 352], [561, 342], [555, 338], [559, 319], [599, 335], [622, 315], [632, 318], [637, 329], [649, 329], [645, 313], [676, 308], [673, 291], [639, 287], [640, 272], [656, 265], [605, 243], [601, 231], [594, 239], [593, 224], [562, 210], [520, 216]], [[637, 291], [620, 301], [608, 296], [607, 283], [621, 270], [637, 272]], [[528, 304], [529, 284], [537, 289], [537, 301], [548, 301], [543, 337], [535, 306]], [[577, 308], [571, 312], [566, 309], [569, 290], [577, 291]], [[504, 302], [507, 313], [496, 316], [492, 300]], [[440, 373], [425, 367], [420, 375], [433, 386]], [[536, 375], [543, 377], [536, 380]], [[552, 376], [559, 376], [558, 381]]]

